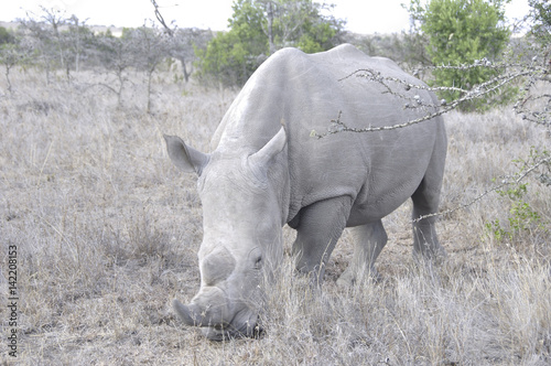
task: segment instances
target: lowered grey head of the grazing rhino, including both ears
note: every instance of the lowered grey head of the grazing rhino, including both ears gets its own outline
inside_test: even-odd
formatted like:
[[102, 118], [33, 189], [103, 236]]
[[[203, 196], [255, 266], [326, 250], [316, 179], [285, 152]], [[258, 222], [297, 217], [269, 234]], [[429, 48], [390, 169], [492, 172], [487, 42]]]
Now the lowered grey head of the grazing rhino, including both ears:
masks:
[[198, 251], [201, 289], [187, 304], [174, 300], [182, 321], [201, 326], [210, 340], [256, 336], [262, 281], [282, 257], [287, 218], [283, 128], [255, 152], [202, 153], [165, 136], [173, 163], [198, 175], [203, 241]]

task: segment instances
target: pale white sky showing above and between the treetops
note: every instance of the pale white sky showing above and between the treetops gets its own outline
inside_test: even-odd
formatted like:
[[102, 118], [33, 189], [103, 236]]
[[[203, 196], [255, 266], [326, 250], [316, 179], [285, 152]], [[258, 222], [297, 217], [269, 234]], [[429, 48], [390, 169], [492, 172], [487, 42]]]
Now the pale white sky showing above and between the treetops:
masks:
[[[409, 29], [408, 12], [401, 3], [409, 0], [327, 0], [333, 14], [347, 20], [346, 30], [361, 34], [393, 33]], [[156, 0], [166, 23], [180, 28], [227, 29], [233, 0]], [[140, 26], [154, 19], [151, 0], [0, 0], [0, 21], [25, 18], [28, 10], [40, 14], [40, 7], [75, 14], [88, 25]], [[509, 19], [528, 13], [528, 0], [512, 0], [506, 8]]]

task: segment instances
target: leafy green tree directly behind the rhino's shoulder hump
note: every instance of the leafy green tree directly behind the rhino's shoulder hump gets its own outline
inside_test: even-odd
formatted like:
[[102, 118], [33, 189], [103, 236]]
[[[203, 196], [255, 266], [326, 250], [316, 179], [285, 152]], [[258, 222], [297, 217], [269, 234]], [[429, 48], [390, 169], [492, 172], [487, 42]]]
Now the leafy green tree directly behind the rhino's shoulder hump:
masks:
[[341, 43], [344, 22], [322, 15], [312, 0], [236, 0], [229, 31], [197, 51], [199, 76], [240, 86], [266, 58], [284, 46], [320, 52]]

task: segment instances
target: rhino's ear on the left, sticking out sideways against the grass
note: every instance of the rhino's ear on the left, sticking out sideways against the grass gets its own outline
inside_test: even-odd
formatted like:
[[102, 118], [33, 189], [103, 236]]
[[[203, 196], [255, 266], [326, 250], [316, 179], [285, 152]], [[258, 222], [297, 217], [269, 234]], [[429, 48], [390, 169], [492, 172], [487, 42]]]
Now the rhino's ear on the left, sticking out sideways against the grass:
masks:
[[169, 157], [176, 168], [184, 172], [197, 173], [201, 175], [203, 169], [208, 164], [210, 155], [188, 147], [177, 136], [164, 136]]

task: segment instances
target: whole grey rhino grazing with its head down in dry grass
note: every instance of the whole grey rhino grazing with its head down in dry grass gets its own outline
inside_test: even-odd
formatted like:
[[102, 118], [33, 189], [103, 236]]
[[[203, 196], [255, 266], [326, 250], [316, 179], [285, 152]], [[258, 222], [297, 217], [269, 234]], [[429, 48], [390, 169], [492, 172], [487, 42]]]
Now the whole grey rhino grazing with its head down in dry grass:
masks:
[[[354, 282], [376, 273], [374, 262], [387, 243], [381, 218], [409, 197], [413, 218], [434, 213], [446, 153], [441, 118], [391, 131], [312, 138], [337, 118], [349, 127], [391, 126], [433, 107], [409, 103], [377, 83], [349, 77], [377, 69], [410, 84], [421, 82], [393, 62], [368, 57], [352, 45], [306, 55], [277, 52], [251, 76], [202, 153], [166, 136], [174, 164], [198, 175], [204, 238], [198, 252], [201, 289], [186, 305], [174, 306], [188, 325], [212, 340], [253, 336], [261, 282], [282, 258], [284, 224], [296, 229], [296, 269], [321, 282], [324, 267], [345, 227], [353, 227], [355, 255], [338, 280]], [[435, 96], [403, 85], [396, 90], [435, 105]], [[282, 127], [283, 126], [283, 127]], [[444, 255], [435, 218], [413, 224], [413, 252]]]

